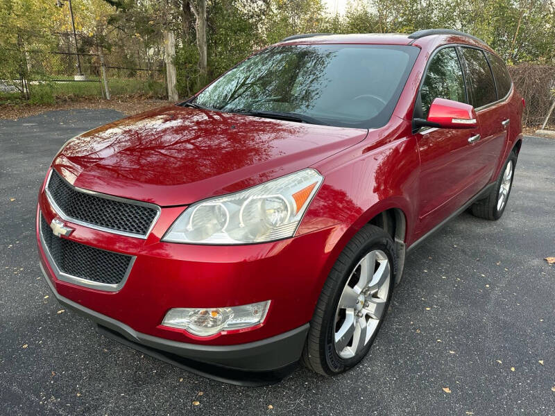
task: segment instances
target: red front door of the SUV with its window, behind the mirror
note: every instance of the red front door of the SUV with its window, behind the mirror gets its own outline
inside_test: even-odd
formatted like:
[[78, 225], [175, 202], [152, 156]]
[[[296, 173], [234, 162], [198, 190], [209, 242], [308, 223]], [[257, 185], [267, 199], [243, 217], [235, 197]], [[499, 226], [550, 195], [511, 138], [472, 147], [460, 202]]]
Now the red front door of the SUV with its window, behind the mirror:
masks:
[[[429, 61], [416, 101], [415, 117], [426, 118], [435, 98], [468, 103], [465, 80], [455, 46], [439, 49]], [[418, 228], [423, 235], [479, 191], [481, 161], [472, 156], [469, 140], [479, 128], [423, 128], [416, 132], [420, 152]]]

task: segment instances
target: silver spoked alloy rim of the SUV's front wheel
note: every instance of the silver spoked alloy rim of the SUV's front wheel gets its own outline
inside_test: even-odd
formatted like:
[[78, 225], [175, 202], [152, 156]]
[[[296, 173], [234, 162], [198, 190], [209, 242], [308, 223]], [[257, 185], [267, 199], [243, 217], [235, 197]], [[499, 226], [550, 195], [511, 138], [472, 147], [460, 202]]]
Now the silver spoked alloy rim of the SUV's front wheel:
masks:
[[335, 313], [334, 346], [341, 358], [359, 354], [385, 313], [391, 268], [382, 250], [366, 254], [352, 270]]

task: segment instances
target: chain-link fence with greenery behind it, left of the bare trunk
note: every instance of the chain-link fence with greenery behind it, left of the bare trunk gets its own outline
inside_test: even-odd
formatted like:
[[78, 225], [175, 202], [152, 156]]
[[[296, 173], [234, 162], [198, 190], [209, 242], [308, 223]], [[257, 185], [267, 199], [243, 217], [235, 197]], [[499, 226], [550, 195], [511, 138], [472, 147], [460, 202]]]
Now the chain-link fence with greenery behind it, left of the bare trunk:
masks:
[[106, 49], [94, 35], [80, 33], [17, 33], [12, 42], [0, 46], [0, 55], [6, 58], [0, 60], [0, 102], [50, 103], [57, 98], [110, 96], [165, 98], [162, 46], [138, 46], [135, 51], [117, 46]]

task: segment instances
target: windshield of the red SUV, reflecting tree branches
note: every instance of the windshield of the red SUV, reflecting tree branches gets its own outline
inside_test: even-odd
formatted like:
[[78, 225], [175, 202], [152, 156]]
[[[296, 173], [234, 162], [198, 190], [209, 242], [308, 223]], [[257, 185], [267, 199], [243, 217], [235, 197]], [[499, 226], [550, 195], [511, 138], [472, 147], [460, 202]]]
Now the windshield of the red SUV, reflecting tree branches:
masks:
[[192, 103], [222, 112], [289, 114], [284, 119], [377, 128], [391, 118], [419, 51], [391, 45], [273, 46], [225, 73]]

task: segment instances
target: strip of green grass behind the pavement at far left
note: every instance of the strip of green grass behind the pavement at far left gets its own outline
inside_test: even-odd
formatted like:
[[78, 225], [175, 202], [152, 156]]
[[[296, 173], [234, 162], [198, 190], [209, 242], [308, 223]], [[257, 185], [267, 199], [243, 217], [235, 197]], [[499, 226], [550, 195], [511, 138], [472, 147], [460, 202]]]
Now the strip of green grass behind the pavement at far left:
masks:
[[[68, 77], [59, 77], [64, 79]], [[68, 78], [71, 80], [72, 78]], [[59, 100], [71, 101], [85, 97], [102, 97], [99, 78], [89, 78], [89, 81], [68, 81], [46, 83], [31, 83], [29, 85], [31, 100], [21, 98], [19, 92], [0, 92], [0, 105], [3, 104], [53, 104]], [[141, 79], [110, 79], [108, 80], [110, 95], [118, 96], [147, 96], [149, 98], [163, 98], [166, 96], [166, 86], [163, 81]]]

